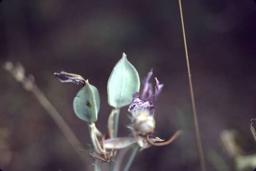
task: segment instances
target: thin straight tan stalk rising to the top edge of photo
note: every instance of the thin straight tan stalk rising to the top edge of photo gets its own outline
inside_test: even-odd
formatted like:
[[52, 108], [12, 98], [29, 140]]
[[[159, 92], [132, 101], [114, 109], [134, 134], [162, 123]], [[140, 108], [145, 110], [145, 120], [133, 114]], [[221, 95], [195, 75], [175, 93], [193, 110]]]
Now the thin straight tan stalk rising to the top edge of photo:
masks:
[[185, 56], [186, 56], [187, 72], [188, 72], [188, 79], [189, 79], [189, 87], [190, 87], [190, 94], [191, 94], [191, 102], [192, 102], [193, 115], [194, 115], [196, 141], [197, 141], [197, 147], [198, 147], [199, 158], [200, 158], [200, 166], [201, 166], [202, 171], [206, 171], [205, 157], [204, 157], [204, 152], [203, 152], [203, 148], [202, 148], [202, 142], [201, 142], [201, 138], [200, 138], [200, 132], [199, 132], [199, 126], [198, 126], [198, 120], [197, 120], [197, 114], [196, 114], [195, 97], [194, 97], [194, 90], [193, 90], [193, 85], [192, 85], [189, 58], [188, 58], [188, 52], [187, 52], [187, 43], [186, 43], [186, 36], [185, 36], [185, 28], [184, 28], [184, 20], [183, 20], [181, 0], [179, 0], [179, 7], [180, 7], [181, 25], [182, 25], [182, 32], [183, 32], [183, 39], [184, 39]]

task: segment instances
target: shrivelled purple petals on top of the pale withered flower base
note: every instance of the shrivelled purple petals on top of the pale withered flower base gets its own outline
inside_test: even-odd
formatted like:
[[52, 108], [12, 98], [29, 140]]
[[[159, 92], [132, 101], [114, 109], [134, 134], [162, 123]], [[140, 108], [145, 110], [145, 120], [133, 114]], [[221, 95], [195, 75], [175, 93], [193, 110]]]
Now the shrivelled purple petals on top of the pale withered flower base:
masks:
[[153, 69], [147, 74], [143, 80], [143, 91], [141, 98], [139, 98], [139, 93], [133, 94], [133, 101], [128, 108], [128, 113], [130, 114], [132, 121], [136, 117], [136, 113], [142, 110], [148, 110], [150, 115], [154, 114], [154, 103], [163, 89], [163, 84], [160, 84], [158, 79], [155, 77], [155, 90], [153, 94], [153, 86], [149, 83], [151, 76], [153, 75]]

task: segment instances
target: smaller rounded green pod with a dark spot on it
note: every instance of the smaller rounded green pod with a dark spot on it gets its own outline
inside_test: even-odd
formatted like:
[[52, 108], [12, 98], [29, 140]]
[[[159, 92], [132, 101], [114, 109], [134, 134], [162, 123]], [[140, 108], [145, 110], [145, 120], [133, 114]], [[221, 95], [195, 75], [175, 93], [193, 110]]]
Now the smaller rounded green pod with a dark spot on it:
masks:
[[100, 95], [97, 88], [90, 85], [88, 80], [77, 93], [73, 101], [75, 114], [82, 120], [94, 123], [100, 110]]

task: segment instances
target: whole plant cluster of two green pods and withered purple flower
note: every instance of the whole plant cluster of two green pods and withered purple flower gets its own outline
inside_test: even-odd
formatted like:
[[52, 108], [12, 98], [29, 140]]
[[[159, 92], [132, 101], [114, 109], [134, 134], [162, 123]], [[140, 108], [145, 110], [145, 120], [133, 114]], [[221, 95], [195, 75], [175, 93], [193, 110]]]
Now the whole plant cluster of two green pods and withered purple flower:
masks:
[[[113, 106], [113, 110], [108, 119], [109, 138], [107, 139], [95, 124], [100, 109], [100, 97], [97, 88], [77, 74], [62, 71], [61, 73], [54, 73], [54, 75], [62, 83], [71, 82], [83, 85], [74, 98], [73, 106], [75, 114], [86, 121], [90, 128], [92, 141], [92, 152], [90, 154], [94, 159], [109, 162], [117, 155], [119, 150], [135, 144], [141, 150], [152, 145], [166, 145], [181, 133], [181, 131], [177, 131], [166, 142], [158, 137], [150, 137], [155, 129], [155, 102], [164, 85], [160, 84], [155, 77], [156, 84], [153, 90], [153, 85], [150, 83], [150, 78], [153, 76], [153, 69], [151, 69], [143, 80], [143, 90], [139, 95], [139, 75], [124, 53], [122, 59], [114, 67], [108, 81], [108, 103]], [[126, 105], [129, 105], [128, 116], [131, 119], [131, 124], [128, 128], [131, 130], [132, 136], [118, 137], [119, 112], [120, 108]]]

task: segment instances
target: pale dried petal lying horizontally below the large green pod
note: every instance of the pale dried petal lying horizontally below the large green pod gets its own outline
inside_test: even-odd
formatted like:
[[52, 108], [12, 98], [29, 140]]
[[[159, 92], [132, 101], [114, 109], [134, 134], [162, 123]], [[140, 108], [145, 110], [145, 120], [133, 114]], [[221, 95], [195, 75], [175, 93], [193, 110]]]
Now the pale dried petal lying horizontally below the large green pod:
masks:
[[106, 149], [123, 149], [129, 147], [133, 143], [135, 143], [133, 137], [110, 138], [105, 140], [104, 147]]

